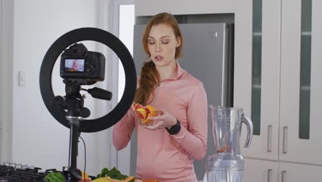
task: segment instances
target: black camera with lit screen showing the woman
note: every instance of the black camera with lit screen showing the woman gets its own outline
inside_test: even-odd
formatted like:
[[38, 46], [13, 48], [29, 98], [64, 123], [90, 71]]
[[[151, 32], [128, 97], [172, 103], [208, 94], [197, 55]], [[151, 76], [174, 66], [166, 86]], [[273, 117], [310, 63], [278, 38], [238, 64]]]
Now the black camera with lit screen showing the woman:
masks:
[[60, 73], [63, 79], [93, 83], [105, 79], [105, 57], [88, 51], [83, 43], [74, 43], [61, 54]]

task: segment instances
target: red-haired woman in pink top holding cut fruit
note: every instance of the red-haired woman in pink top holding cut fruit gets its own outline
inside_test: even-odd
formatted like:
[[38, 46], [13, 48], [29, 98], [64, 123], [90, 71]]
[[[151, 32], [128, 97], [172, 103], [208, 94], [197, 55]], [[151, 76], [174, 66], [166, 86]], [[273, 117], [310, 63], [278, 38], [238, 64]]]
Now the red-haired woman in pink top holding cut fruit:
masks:
[[[117, 150], [138, 132], [136, 176], [158, 181], [197, 181], [193, 159], [206, 154], [207, 101], [202, 82], [180, 67], [182, 34], [169, 13], [151, 18], [142, 36], [150, 61], [144, 63], [134, 102], [153, 105], [161, 114], [142, 126], [129, 110], [113, 129]], [[198, 60], [196, 60], [198, 61]]]

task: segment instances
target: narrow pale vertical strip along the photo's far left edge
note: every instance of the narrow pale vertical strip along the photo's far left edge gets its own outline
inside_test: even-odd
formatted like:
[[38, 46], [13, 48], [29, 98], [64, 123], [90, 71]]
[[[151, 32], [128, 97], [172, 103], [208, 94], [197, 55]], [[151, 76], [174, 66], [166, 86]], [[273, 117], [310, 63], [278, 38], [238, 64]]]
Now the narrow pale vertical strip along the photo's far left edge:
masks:
[[13, 7], [13, 1], [0, 1], [1, 163], [4, 161], [12, 161]]

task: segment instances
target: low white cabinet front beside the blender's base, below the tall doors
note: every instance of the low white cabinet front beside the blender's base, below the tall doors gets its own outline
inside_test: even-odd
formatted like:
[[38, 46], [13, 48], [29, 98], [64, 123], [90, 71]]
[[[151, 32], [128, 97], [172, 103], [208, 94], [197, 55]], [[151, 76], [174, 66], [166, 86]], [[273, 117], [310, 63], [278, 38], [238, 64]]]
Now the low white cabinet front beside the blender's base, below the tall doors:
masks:
[[278, 162], [244, 159], [243, 182], [277, 182], [279, 180]]

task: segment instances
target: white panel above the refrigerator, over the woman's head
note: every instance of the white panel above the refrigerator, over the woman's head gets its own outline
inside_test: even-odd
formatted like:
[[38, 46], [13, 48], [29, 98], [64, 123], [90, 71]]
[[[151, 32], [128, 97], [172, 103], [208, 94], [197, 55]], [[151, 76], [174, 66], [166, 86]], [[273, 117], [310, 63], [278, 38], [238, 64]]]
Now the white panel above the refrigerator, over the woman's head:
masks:
[[136, 16], [152, 16], [159, 12], [171, 14], [235, 12], [235, 0], [136, 0], [135, 4]]

